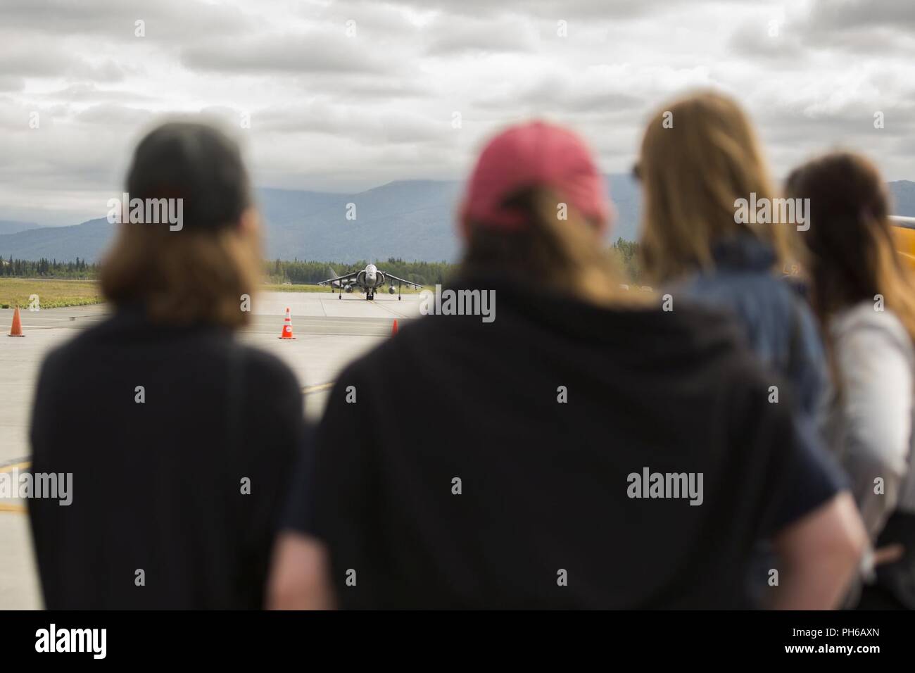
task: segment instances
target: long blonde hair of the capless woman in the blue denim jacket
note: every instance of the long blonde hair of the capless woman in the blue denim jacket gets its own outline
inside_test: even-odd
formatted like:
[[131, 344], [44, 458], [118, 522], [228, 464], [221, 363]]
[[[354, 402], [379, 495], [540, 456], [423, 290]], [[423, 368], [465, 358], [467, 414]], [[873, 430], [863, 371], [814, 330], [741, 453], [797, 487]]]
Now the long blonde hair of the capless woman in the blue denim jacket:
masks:
[[797, 258], [790, 225], [735, 222], [737, 199], [772, 199], [775, 190], [747, 115], [724, 94], [694, 92], [658, 110], [642, 139], [637, 174], [641, 255], [654, 280], [714, 266], [713, 245], [736, 233], [771, 244], [778, 266]]

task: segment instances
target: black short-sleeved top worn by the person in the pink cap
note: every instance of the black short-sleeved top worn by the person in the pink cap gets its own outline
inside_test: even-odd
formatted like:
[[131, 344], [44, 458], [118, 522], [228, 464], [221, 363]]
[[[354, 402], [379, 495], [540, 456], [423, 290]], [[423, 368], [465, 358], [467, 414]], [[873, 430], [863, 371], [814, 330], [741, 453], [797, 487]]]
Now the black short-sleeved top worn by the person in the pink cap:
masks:
[[495, 320], [425, 316], [350, 365], [299, 468], [286, 525], [340, 606], [753, 607], [754, 543], [842, 481], [737, 326], [461, 287]]

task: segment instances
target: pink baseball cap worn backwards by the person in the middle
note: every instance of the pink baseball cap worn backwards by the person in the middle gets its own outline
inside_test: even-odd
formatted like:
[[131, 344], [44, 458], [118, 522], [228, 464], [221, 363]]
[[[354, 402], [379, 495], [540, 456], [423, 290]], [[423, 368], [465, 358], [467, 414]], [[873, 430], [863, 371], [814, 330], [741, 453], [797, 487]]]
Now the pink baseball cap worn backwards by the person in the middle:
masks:
[[511, 126], [490, 140], [468, 181], [461, 222], [521, 229], [522, 213], [505, 208], [503, 201], [516, 190], [538, 186], [554, 189], [595, 220], [599, 233], [607, 231], [607, 187], [587, 146], [571, 131], [541, 121]]

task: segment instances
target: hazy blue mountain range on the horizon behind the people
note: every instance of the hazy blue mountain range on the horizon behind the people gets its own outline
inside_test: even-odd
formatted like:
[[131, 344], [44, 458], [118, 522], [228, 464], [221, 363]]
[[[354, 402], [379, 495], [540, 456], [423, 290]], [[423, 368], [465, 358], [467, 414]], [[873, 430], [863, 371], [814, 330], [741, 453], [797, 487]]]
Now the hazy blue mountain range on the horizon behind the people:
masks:
[[[611, 233], [637, 238], [640, 190], [630, 175], [606, 176], [618, 219]], [[915, 216], [915, 182], [888, 183], [899, 215]], [[264, 255], [269, 259], [454, 261], [458, 257], [454, 215], [463, 183], [398, 180], [358, 194], [257, 190], [264, 219]], [[354, 204], [355, 219], [348, 219]], [[110, 244], [105, 218], [62, 227], [0, 220], [0, 255], [59, 261], [98, 261]]]

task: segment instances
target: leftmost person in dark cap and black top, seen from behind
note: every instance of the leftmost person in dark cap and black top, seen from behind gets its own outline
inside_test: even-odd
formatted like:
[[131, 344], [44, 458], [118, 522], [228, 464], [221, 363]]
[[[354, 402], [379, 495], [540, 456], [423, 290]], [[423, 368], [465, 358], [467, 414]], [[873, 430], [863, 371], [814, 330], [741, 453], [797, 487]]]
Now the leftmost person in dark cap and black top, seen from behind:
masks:
[[32, 471], [73, 485], [70, 505], [29, 500], [45, 605], [260, 608], [305, 428], [296, 376], [233, 336], [260, 265], [247, 171], [228, 136], [176, 122], [136, 147], [126, 187], [113, 313], [38, 381]]

